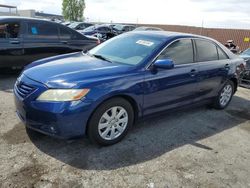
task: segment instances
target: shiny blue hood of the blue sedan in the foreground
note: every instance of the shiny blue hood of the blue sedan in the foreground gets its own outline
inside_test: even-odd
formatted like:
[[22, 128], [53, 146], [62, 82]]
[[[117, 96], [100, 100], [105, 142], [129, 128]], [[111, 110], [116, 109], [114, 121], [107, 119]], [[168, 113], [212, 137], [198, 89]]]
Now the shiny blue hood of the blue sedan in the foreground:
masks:
[[132, 68], [79, 52], [34, 62], [23, 74], [49, 88], [76, 88], [83, 83], [120, 77]]

